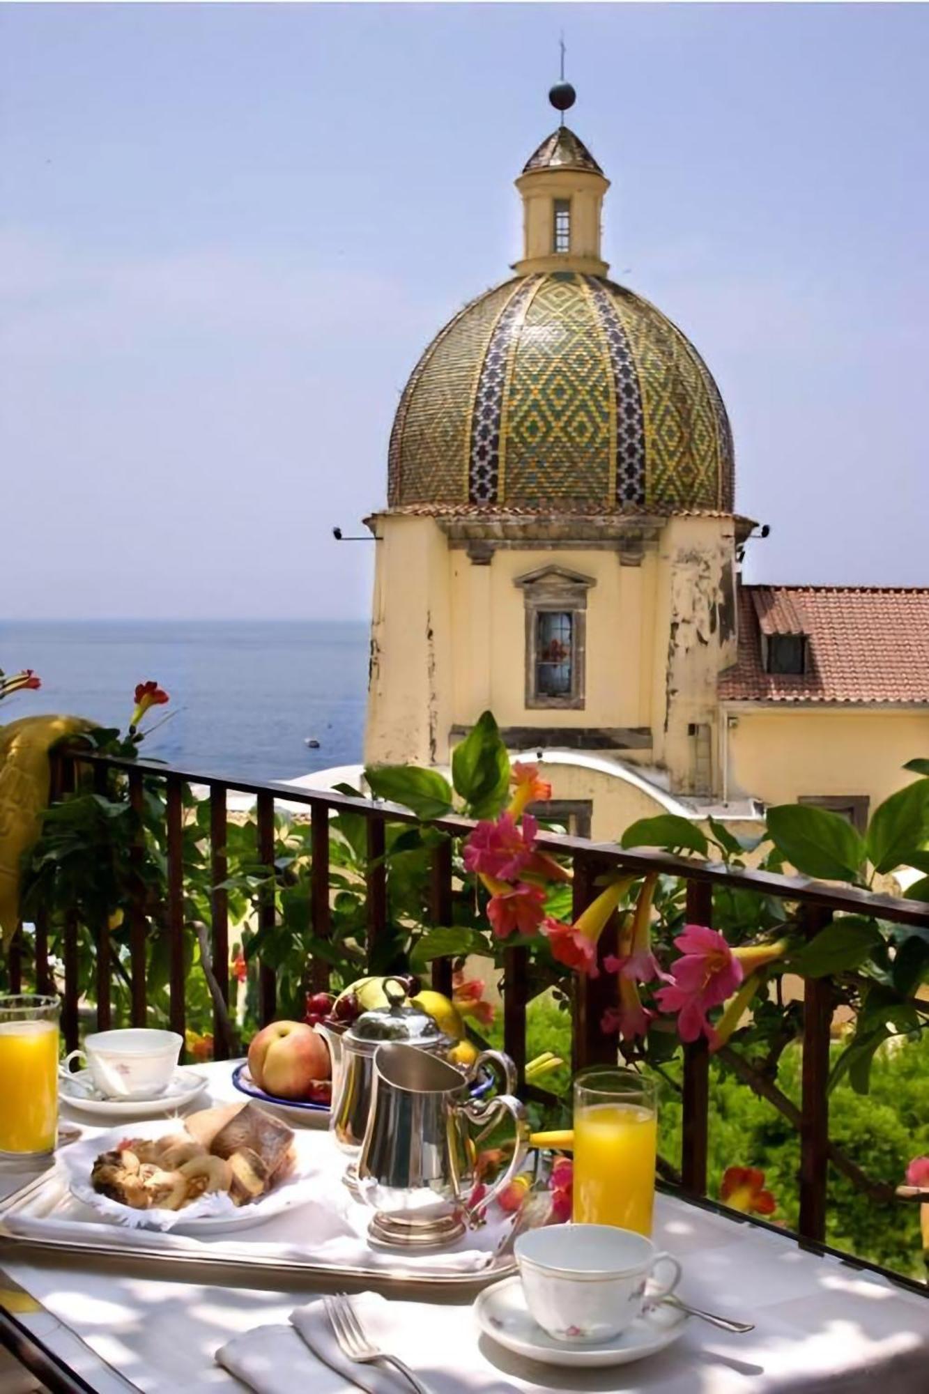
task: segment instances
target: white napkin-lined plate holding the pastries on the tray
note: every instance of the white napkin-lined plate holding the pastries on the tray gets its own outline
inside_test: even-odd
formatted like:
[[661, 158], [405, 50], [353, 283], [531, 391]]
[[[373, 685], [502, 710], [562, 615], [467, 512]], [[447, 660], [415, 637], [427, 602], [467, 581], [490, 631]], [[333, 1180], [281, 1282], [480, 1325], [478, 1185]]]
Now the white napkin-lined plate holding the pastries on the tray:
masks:
[[114, 1225], [131, 1230], [170, 1230], [204, 1238], [262, 1224], [271, 1216], [305, 1204], [319, 1190], [318, 1172], [310, 1174], [305, 1161], [301, 1164], [299, 1153], [293, 1172], [261, 1200], [252, 1200], [247, 1206], [234, 1206], [227, 1195], [208, 1195], [184, 1206], [183, 1210], [133, 1210], [119, 1200], [98, 1195], [91, 1185], [91, 1170], [99, 1154], [117, 1147], [127, 1136], [153, 1139], [183, 1131], [181, 1119], [128, 1124], [113, 1132], [71, 1143], [57, 1154], [57, 1167], [64, 1174], [71, 1195]]

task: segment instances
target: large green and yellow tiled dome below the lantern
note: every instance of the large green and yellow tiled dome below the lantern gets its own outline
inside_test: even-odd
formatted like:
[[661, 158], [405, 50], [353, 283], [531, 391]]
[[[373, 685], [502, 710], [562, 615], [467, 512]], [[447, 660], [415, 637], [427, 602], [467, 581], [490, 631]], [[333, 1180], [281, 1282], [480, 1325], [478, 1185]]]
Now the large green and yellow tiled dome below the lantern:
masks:
[[600, 276], [478, 296], [432, 340], [393, 422], [391, 507], [732, 512], [732, 436], [696, 348]]

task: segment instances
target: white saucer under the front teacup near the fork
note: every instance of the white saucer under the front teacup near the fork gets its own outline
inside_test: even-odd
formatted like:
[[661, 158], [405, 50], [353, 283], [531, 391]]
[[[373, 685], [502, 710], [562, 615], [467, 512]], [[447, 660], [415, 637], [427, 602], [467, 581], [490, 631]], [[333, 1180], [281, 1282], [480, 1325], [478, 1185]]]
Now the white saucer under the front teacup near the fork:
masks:
[[533, 1322], [526, 1310], [523, 1285], [519, 1277], [505, 1278], [502, 1282], [495, 1282], [492, 1288], [484, 1288], [474, 1302], [474, 1313], [481, 1331], [498, 1345], [515, 1351], [516, 1355], [524, 1355], [530, 1361], [541, 1361], [545, 1365], [575, 1365], [587, 1369], [603, 1365], [630, 1365], [632, 1361], [654, 1355], [656, 1351], [663, 1351], [665, 1345], [677, 1341], [688, 1320], [686, 1313], [667, 1303], [643, 1313], [611, 1341], [568, 1345], [565, 1341], [557, 1341], [548, 1335], [537, 1322]]

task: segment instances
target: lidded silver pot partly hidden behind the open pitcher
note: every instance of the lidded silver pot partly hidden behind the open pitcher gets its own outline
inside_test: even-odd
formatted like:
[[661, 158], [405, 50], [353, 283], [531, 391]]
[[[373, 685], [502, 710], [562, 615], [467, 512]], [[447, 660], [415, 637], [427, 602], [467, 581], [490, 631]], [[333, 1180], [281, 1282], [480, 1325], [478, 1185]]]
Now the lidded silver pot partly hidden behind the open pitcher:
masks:
[[[325, 1039], [332, 1055], [332, 1104], [329, 1128], [342, 1151], [357, 1157], [371, 1111], [374, 1052], [385, 1041], [403, 1041], [431, 1054], [445, 1054], [453, 1041], [444, 1036], [428, 1012], [413, 1006], [400, 979], [384, 980], [388, 1006], [363, 1012], [345, 1032], [322, 1022], [315, 1030]], [[354, 1168], [346, 1174], [354, 1189]]]

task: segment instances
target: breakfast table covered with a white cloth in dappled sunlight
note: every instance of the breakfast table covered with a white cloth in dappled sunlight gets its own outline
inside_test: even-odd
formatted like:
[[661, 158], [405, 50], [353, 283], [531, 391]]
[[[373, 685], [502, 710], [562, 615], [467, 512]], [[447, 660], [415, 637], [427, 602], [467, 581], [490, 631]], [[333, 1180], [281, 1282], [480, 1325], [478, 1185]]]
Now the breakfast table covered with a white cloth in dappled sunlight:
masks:
[[[204, 1069], [213, 1103], [243, 1098], [232, 1086], [232, 1064]], [[206, 1107], [206, 1100], [201, 1097], [194, 1107]], [[64, 1118], [81, 1126], [86, 1122], [67, 1105]], [[0, 1172], [0, 1195], [27, 1179], [28, 1172]], [[682, 1260], [683, 1298], [755, 1320], [757, 1330], [739, 1337], [690, 1322], [668, 1351], [612, 1372], [555, 1370], [511, 1356], [485, 1340], [483, 1354], [515, 1390], [527, 1391], [823, 1394], [841, 1388], [841, 1394], [870, 1394], [880, 1384], [886, 1394], [923, 1394], [929, 1387], [929, 1302], [923, 1296], [805, 1250], [790, 1235], [681, 1197], [658, 1197], [656, 1242]], [[314, 1291], [308, 1285], [258, 1289], [244, 1280], [152, 1278], [121, 1260], [100, 1257], [91, 1267], [85, 1259], [35, 1256], [3, 1245], [0, 1288], [17, 1285], [18, 1296], [7, 1296], [7, 1303], [18, 1308], [18, 1320], [96, 1394], [241, 1394], [243, 1386], [213, 1363], [215, 1349], [252, 1326], [286, 1322]], [[421, 1289], [416, 1296], [423, 1299]], [[476, 1340], [467, 1324], [470, 1296], [438, 1294], [437, 1301], [462, 1306], [463, 1345], [455, 1356], [463, 1361], [463, 1394], [477, 1391], [462, 1355], [467, 1341]], [[4, 1394], [14, 1388], [1, 1368], [0, 1388]]]

